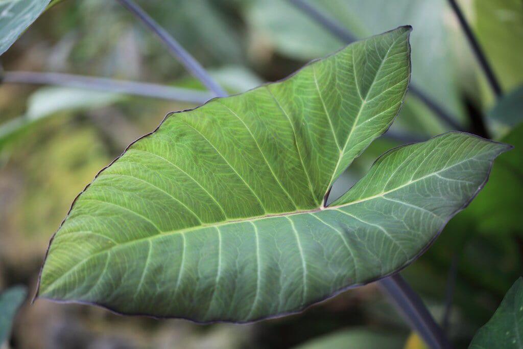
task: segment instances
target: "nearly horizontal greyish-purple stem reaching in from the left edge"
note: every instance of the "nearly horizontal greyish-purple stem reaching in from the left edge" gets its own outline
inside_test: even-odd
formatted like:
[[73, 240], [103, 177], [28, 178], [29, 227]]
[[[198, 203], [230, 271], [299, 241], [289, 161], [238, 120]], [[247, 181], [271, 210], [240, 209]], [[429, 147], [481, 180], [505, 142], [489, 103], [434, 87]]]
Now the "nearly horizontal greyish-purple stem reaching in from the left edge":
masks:
[[2, 83], [61, 85], [191, 103], [204, 103], [212, 97], [196, 89], [62, 73], [5, 72]]

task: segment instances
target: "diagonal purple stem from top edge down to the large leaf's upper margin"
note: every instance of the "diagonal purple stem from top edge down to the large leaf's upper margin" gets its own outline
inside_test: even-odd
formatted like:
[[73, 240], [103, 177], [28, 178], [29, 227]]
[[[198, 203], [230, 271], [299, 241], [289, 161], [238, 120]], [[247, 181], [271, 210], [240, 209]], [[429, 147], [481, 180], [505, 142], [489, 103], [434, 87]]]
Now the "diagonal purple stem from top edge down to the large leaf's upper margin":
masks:
[[181, 64], [183, 64], [187, 70], [194, 75], [198, 80], [205, 85], [209, 91], [218, 97], [226, 97], [228, 93], [218, 85], [217, 82], [207, 73], [207, 71], [194, 59], [181, 45], [171, 36], [165, 29], [156, 23], [149, 15], [147, 15], [143, 9], [131, 0], [118, 0], [120, 4], [126, 7], [132, 14], [138, 17], [147, 28], [154, 32], [169, 48], [169, 50], [177, 57]]

